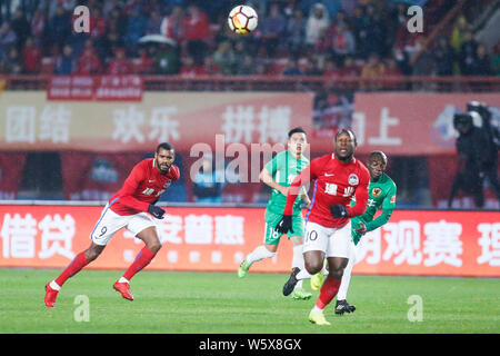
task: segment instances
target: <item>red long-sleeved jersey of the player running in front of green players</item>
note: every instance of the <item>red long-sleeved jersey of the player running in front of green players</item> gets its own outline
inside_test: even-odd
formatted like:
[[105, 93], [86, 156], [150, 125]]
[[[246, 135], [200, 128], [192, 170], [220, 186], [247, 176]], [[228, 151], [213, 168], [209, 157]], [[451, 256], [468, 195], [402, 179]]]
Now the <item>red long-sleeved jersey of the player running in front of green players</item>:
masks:
[[[368, 185], [370, 174], [364, 165], [352, 158], [343, 164], [334, 154], [311, 160], [293, 180], [287, 196], [283, 215], [291, 215], [299, 188], [308, 181], [314, 181], [311, 205], [306, 216], [307, 221], [317, 222], [324, 227], [342, 227], [349, 218], [364, 214], [368, 204]], [[350, 201], [356, 196], [357, 204], [351, 207]], [[348, 218], [333, 218], [330, 207], [343, 205], [348, 210]]]

